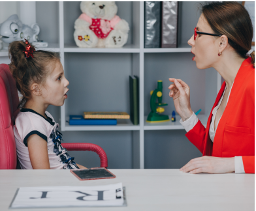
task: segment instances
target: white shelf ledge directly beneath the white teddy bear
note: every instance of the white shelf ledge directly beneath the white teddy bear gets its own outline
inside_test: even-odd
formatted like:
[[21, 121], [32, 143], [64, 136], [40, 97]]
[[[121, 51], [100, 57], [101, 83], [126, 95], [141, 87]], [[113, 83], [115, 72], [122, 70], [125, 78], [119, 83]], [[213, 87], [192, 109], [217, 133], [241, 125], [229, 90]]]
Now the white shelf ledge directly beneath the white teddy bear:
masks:
[[65, 44], [64, 52], [69, 53], [140, 53], [135, 45], [125, 45], [123, 48], [79, 48], [74, 44]]

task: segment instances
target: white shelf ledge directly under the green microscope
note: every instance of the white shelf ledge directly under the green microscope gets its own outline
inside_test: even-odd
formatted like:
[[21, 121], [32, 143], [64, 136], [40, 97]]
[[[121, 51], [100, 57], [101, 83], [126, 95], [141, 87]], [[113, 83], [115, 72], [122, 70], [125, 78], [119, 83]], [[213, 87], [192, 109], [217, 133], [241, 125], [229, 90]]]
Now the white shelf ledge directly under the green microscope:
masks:
[[[169, 116], [170, 121], [168, 122], [160, 122], [160, 123], [150, 123], [146, 122], [147, 117], [144, 117], [144, 130], [184, 130], [182, 124], [180, 124], [180, 116], [176, 115], [176, 122], [172, 122], [172, 116]], [[206, 115], [198, 115], [199, 120], [202, 122], [204, 127], [206, 127], [206, 123], [208, 120], [208, 116]]]

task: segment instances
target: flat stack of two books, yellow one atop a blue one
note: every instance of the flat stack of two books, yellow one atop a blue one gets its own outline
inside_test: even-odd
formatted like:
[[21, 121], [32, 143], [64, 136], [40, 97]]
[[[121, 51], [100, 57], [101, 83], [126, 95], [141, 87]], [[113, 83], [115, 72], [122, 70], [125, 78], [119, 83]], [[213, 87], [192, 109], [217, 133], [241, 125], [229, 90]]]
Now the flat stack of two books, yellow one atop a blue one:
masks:
[[70, 115], [70, 125], [116, 125], [117, 119], [130, 119], [125, 112], [84, 112], [82, 115]]

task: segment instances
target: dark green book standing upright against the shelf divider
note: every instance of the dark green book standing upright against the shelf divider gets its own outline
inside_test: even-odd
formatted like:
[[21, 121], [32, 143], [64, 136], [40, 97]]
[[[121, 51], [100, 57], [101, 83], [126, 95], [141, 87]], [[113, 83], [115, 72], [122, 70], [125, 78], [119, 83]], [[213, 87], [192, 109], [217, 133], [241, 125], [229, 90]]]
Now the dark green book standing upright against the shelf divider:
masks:
[[139, 123], [139, 107], [138, 107], [138, 77], [129, 76], [129, 89], [130, 89], [130, 117], [133, 124]]

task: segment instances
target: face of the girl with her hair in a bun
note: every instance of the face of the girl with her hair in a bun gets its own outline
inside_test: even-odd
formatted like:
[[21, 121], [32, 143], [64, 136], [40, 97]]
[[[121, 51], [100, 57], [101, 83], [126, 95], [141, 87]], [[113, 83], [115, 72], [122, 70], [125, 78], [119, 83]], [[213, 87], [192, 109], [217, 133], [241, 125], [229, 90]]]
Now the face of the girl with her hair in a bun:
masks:
[[63, 106], [67, 99], [67, 86], [69, 81], [64, 76], [62, 64], [57, 62], [46, 77], [44, 89], [42, 89], [42, 97], [45, 104], [53, 106]]

